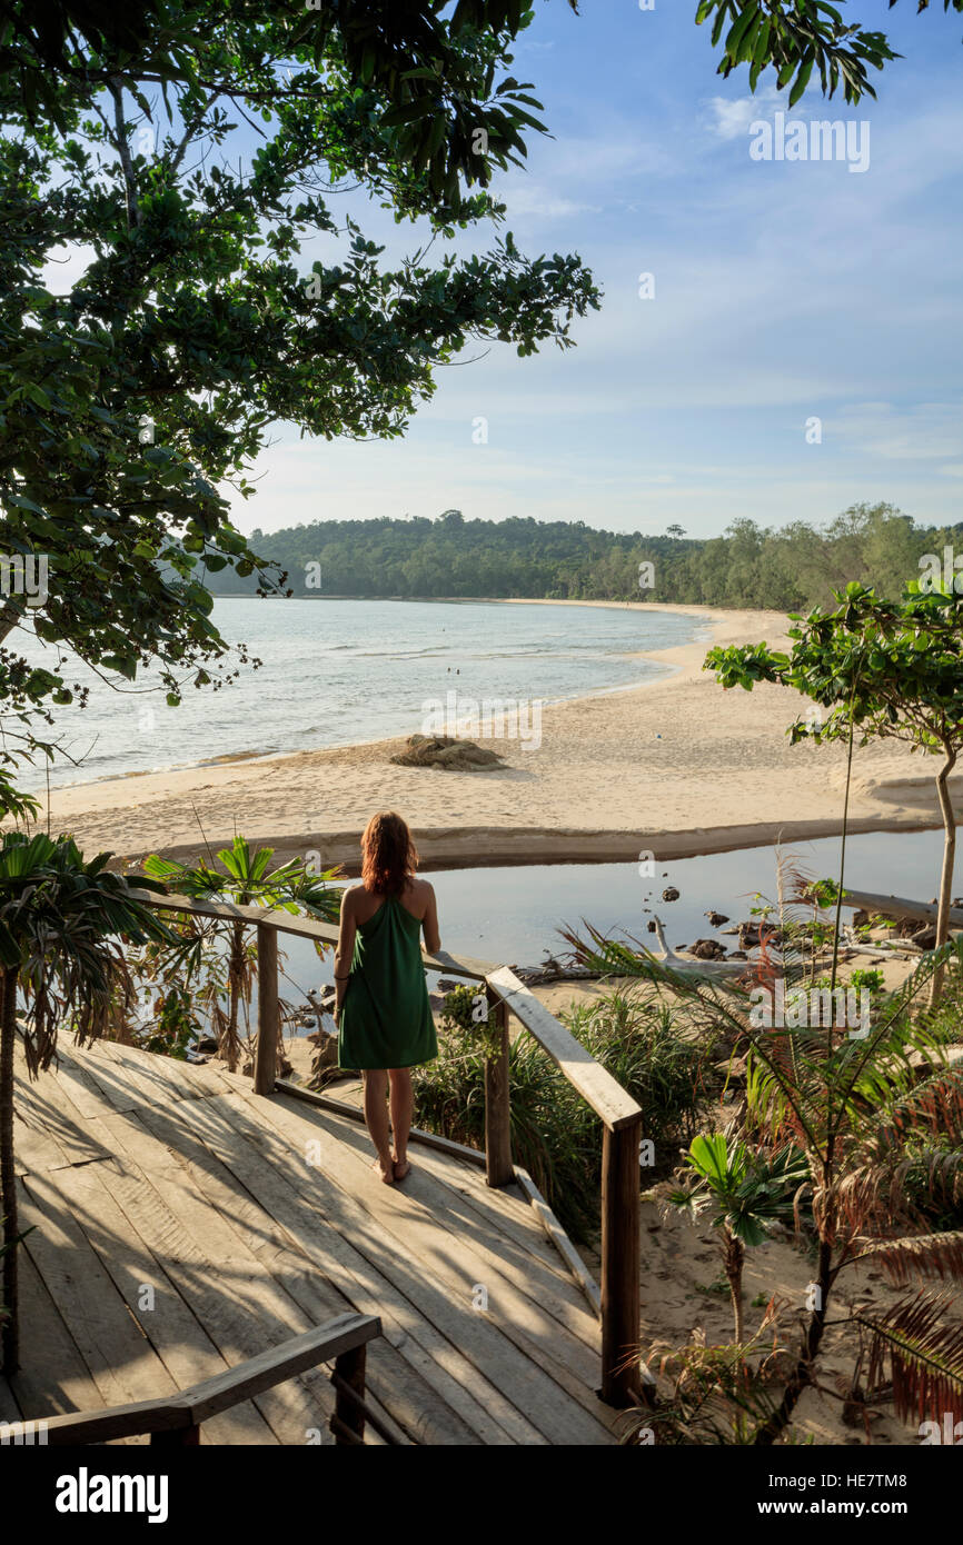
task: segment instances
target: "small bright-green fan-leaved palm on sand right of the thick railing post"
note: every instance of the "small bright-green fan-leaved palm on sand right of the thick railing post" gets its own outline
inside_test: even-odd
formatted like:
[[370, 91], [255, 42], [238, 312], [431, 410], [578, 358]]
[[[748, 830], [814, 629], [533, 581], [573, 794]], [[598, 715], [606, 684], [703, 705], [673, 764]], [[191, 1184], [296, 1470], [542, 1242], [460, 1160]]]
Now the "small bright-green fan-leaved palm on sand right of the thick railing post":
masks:
[[722, 1234], [722, 1264], [733, 1299], [736, 1346], [745, 1341], [742, 1268], [745, 1251], [765, 1244], [774, 1224], [793, 1219], [796, 1194], [808, 1180], [805, 1156], [787, 1145], [767, 1156], [740, 1137], [696, 1137], [686, 1154], [694, 1183], [669, 1191], [666, 1205], [696, 1219], [713, 1213]]

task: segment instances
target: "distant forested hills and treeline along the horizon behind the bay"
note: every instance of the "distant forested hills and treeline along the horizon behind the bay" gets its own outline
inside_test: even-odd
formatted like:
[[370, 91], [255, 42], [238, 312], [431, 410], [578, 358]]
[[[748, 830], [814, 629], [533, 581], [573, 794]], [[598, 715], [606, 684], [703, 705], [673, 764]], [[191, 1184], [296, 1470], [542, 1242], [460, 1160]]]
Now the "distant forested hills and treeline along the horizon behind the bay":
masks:
[[[898, 596], [920, 578], [924, 553], [941, 555], [949, 545], [963, 556], [963, 522], [920, 527], [893, 505], [858, 504], [821, 528], [740, 519], [723, 536], [692, 539], [677, 525], [648, 536], [600, 531], [583, 521], [465, 521], [448, 510], [437, 521], [255, 530], [250, 542], [288, 570], [295, 595], [651, 599], [785, 612], [825, 604], [850, 579]], [[244, 595], [255, 581], [226, 570], [212, 575], [212, 589]]]

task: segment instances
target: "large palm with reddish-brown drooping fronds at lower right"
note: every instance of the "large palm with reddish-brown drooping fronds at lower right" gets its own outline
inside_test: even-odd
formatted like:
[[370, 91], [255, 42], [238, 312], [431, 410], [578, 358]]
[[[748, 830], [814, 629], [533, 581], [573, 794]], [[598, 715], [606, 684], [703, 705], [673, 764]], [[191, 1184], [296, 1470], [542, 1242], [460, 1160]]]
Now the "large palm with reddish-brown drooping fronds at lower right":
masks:
[[[897, 1122], [906, 1132], [920, 1080], [931, 1111], [960, 1097], [958, 1075], [943, 1046], [924, 1018], [914, 1020], [910, 1006], [935, 972], [948, 964], [963, 970], [963, 939], [926, 955], [897, 992], [876, 1001], [872, 1024], [856, 1032], [835, 1023], [759, 1024], [748, 990], [737, 983], [720, 989], [711, 980], [672, 970], [645, 947], [609, 939], [590, 925], [584, 938], [570, 930], [564, 936], [589, 970], [655, 981], [688, 1004], [696, 1027], [713, 1035], [723, 1027], [734, 1044], [748, 1044], [747, 1134], [774, 1148], [793, 1143], [805, 1156], [816, 1265], [782, 1398], [751, 1437], [756, 1445], [771, 1445], [818, 1380], [829, 1304], [841, 1272], [872, 1259], [897, 1285], [963, 1278], [963, 1231], [921, 1230], [918, 1210], [892, 1185], [893, 1143], [881, 1136]], [[958, 1156], [951, 1163], [955, 1174]], [[870, 1309], [850, 1315], [853, 1327], [869, 1336], [873, 1370], [889, 1360], [903, 1418], [934, 1411], [963, 1418], [963, 1330], [946, 1329], [943, 1299], [921, 1290], [884, 1316]]]

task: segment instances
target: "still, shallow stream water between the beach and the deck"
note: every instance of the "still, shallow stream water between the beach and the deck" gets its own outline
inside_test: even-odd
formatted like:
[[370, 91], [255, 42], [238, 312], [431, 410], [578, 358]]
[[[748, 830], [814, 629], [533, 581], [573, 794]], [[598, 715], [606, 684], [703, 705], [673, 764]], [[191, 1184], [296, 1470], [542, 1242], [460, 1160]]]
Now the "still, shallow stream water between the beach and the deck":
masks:
[[[812, 879], [839, 873], [839, 839], [799, 842], [784, 850]], [[853, 890], [929, 901], [937, 890], [941, 831], [859, 833], [849, 839], [846, 884]], [[603, 932], [635, 935], [651, 944], [646, 921], [652, 910], [665, 924], [671, 947], [697, 938], [736, 942], [709, 927], [706, 910], [733, 922], [750, 916], [756, 893], [776, 901], [778, 851], [771, 847], [711, 853], [655, 865], [654, 878], [640, 878], [637, 864], [555, 864], [526, 868], [451, 870], [431, 874], [437, 893], [442, 944], [451, 955], [473, 955], [502, 964], [536, 966], [546, 950], [564, 949], [558, 927], [580, 927], [586, 918]], [[674, 885], [679, 901], [663, 902]], [[963, 893], [963, 867], [957, 881]], [[301, 989], [331, 981], [329, 959], [322, 966], [300, 939], [281, 938], [291, 984]], [[294, 992], [283, 989], [284, 997]]]

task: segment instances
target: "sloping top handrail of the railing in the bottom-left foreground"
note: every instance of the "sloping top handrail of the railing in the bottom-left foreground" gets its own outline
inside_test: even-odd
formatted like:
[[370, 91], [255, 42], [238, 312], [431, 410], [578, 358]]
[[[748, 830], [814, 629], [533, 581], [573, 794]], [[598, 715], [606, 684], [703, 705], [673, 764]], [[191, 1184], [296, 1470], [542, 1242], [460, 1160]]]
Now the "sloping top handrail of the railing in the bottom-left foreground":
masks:
[[[339, 1315], [323, 1326], [305, 1330], [291, 1341], [269, 1347], [247, 1363], [227, 1367], [201, 1384], [182, 1389], [179, 1395], [162, 1395], [159, 1400], [138, 1400], [130, 1406], [108, 1406], [107, 1411], [76, 1411], [63, 1417], [40, 1418], [40, 1421], [11, 1421], [5, 1426], [8, 1441], [32, 1438], [37, 1428], [46, 1443], [110, 1443], [114, 1438], [139, 1437], [144, 1432], [158, 1434], [165, 1441], [196, 1443], [195, 1434], [202, 1421], [221, 1411], [238, 1406], [243, 1400], [261, 1395], [275, 1384], [297, 1374], [357, 1353], [374, 1336], [382, 1335], [382, 1323], [376, 1315]], [[357, 1358], [354, 1360], [357, 1363]], [[343, 1374], [340, 1375], [343, 1377]], [[357, 1378], [357, 1374], [354, 1374]]]

